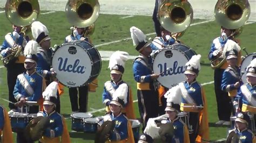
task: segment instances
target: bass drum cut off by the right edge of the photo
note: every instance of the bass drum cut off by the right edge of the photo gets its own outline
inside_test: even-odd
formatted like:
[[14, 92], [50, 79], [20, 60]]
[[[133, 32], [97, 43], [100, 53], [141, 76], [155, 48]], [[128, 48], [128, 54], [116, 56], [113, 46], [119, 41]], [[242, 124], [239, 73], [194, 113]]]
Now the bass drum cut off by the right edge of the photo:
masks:
[[250, 65], [251, 61], [256, 58], [256, 53], [251, 53], [245, 56], [241, 63], [240, 75], [243, 83], [247, 83], [246, 80], [246, 68]]

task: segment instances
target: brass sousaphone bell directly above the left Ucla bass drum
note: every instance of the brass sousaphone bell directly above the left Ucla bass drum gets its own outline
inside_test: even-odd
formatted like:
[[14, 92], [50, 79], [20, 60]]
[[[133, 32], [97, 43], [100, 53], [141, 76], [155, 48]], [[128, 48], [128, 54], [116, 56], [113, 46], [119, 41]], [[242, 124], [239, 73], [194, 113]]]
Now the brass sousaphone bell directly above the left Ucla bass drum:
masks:
[[98, 0], [69, 0], [65, 11], [72, 25], [88, 27], [99, 17], [99, 2]]

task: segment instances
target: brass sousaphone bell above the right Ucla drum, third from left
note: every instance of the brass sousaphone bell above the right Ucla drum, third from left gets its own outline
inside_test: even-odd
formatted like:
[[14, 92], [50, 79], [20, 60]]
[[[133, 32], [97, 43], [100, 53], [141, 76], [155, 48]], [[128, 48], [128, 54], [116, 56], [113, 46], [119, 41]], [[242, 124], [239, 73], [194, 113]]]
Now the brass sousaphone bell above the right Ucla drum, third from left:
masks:
[[193, 19], [193, 9], [186, 0], [165, 0], [158, 11], [161, 26], [172, 33], [185, 31]]

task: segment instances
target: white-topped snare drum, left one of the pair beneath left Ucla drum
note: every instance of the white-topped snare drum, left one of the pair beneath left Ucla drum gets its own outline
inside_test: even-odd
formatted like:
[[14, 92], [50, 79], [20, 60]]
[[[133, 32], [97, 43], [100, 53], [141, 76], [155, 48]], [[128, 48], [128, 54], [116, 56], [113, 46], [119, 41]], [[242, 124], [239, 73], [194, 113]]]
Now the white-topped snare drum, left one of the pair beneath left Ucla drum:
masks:
[[72, 119], [72, 125], [71, 130], [77, 131], [77, 132], [83, 132], [84, 131], [84, 121], [83, 119], [91, 118], [92, 115], [90, 113], [73, 113], [71, 115]]

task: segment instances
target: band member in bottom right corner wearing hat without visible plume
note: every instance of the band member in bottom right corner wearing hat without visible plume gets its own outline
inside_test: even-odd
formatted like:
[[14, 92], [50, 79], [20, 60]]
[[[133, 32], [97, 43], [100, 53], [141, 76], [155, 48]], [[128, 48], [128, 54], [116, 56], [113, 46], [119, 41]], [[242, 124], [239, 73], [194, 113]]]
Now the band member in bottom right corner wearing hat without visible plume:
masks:
[[237, 118], [235, 119], [235, 128], [228, 134], [227, 142], [229, 139], [234, 137], [233, 134], [238, 135], [239, 142], [241, 143], [256, 142], [253, 132], [247, 128], [249, 121], [250, 117], [247, 115], [247, 113], [238, 113]]

